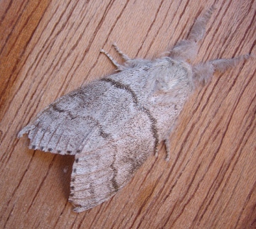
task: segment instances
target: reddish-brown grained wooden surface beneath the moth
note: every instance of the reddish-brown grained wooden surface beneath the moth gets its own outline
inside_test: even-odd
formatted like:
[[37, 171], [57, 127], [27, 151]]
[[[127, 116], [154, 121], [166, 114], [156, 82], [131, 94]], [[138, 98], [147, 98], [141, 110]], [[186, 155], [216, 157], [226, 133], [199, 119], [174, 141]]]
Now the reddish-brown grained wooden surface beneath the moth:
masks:
[[[114, 72], [104, 48], [159, 57], [212, 1], [0, 1], [0, 228], [256, 228], [255, 59], [189, 99], [164, 145], [110, 201], [68, 203], [73, 157], [28, 150], [18, 130], [63, 94]], [[256, 1], [215, 1], [195, 62], [256, 54]]]

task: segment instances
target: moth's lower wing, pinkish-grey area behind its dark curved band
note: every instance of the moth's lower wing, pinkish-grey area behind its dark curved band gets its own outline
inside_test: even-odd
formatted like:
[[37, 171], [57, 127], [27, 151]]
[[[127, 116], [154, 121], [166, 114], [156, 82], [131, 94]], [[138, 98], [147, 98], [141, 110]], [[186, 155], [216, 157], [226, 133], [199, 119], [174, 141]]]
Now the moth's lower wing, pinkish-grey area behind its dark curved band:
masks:
[[69, 197], [74, 211], [97, 206], [122, 189], [153, 152], [153, 139], [149, 116], [139, 112], [103, 147], [75, 155]]

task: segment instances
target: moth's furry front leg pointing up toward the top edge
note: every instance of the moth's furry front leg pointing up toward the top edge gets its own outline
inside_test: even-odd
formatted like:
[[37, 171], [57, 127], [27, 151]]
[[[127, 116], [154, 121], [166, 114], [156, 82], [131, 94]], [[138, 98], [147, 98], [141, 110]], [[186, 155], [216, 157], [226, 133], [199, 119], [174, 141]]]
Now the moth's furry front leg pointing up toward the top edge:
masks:
[[181, 40], [169, 52], [169, 57], [181, 60], [193, 60], [198, 52], [198, 41], [203, 38], [206, 33], [206, 24], [210, 20], [210, 16], [215, 10], [215, 6], [211, 6], [203, 16], [196, 19], [188, 35], [187, 40]]

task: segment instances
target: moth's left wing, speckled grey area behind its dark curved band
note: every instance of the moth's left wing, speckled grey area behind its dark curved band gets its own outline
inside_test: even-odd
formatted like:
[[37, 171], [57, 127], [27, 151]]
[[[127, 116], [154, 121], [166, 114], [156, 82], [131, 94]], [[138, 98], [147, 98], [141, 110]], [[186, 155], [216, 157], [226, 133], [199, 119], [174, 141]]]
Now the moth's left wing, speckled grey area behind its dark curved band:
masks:
[[18, 136], [28, 133], [30, 148], [62, 155], [96, 150], [136, 115], [131, 97], [110, 83], [93, 82], [50, 104]]

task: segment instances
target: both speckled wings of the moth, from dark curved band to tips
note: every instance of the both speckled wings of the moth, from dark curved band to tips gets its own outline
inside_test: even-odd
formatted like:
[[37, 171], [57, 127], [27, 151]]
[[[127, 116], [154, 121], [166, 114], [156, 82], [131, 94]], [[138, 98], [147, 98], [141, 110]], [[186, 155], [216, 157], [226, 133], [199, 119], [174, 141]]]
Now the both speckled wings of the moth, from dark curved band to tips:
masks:
[[[145, 77], [139, 82], [146, 84]], [[158, 143], [149, 110], [127, 84], [111, 78], [61, 97], [18, 135], [23, 133], [33, 149], [75, 155], [69, 200], [77, 212], [116, 194]]]

